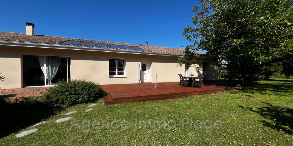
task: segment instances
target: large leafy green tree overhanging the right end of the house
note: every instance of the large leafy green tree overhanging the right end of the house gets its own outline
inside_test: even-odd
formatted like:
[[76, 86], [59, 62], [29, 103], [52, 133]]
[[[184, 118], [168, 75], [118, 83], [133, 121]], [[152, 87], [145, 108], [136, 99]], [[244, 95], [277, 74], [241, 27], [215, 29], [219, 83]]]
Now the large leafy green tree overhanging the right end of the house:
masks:
[[179, 64], [194, 62], [194, 51], [227, 65], [239, 81], [253, 79], [260, 68], [293, 57], [293, 0], [200, 0], [194, 6], [195, 27], [183, 36]]

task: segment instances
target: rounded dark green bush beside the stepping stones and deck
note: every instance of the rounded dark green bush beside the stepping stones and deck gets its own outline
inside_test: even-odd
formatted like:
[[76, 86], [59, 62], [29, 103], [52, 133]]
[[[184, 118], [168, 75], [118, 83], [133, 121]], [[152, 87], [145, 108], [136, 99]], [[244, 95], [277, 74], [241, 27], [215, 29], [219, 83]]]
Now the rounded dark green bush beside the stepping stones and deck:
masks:
[[57, 86], [50, 87], [45, 98], [60, 105], [74, 105], [84, 102], [94, 102], [106, 94], [99, 84], [84, 79], [60, 81]]

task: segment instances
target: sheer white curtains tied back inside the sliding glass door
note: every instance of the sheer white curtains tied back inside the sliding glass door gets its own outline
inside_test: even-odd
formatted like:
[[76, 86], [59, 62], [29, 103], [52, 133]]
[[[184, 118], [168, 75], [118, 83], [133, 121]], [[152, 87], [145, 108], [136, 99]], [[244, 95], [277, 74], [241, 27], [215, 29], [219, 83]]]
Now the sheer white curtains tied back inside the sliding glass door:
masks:
[[[47, 60], [48, 58], [48, 60]], [[49, 80], [48, 82], [48, 85], [52, 85], [52, 79], [55, 77], [57, 71], [58, 71], [58, 68], [59, 68], [59, 65], [60, 65], [60, 61], [61, 61], [61, 58], [59, 57], [47, 57], [46, 58], [46, 78], [47, 80]], [[45, 81], [45, 57], [44, 56], [38, 56], [38, 59], [39, 59], [39, 62], [40, 62], [40, 66], [41, 66], [41, 69], [42, 69], [42, 76], [41, 76], [41, 80], [42, 81]]]

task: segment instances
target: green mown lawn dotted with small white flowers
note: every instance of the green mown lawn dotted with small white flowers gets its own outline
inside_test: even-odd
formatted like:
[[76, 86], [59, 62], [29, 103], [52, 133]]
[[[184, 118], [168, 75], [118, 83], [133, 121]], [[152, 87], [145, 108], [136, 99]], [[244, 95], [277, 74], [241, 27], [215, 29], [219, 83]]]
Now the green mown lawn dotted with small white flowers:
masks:
[[[87, 107], [92, 104], [88, 103], [71, 107], [37, 106], [36, 109], [17, 107], [9, 112], [1, 109], [4, 113], [1, 127], [6, 128], [1, 131], [0, 145], [292, 145], [292, 97], [293, 80], [275, 79], [232, 92], [173, 100], [111, 106], [104, 106], [100, 100], [93, 107]], [[88, 108], [93, 110], [84, 112]], [[63, 115], [74, 110], [77, 111], [74, 114]], [[62, 117], [73, 119], [54, 122]], [[196, 127], [193, 124], [190, 127], [184, 118], [189, 121], [192, 118]], [[187, 123], [184, 128], [182, 119]], [[35, 126], [36, 132], [14, 137], [32, 129], [26, 127], [41, 120], [47, 123]], [[114, 124], [109, 128], [106, 123], [97, 126], [102, 120]], [[128, 126], [117, 124], [123, 120], [128, 121]], [[145, 128], [142, 124], [139, 128], [139, 120], [151, 120], [152, 127]], [[163, 122], [160, 128], [155, 123], [154, 128], [155, 120], [173, 121], [165, 125], [166, 128]], [[96, 125], [92, 125], [93, 122]], [[214, 125], [221, 122], [222, 126]]]

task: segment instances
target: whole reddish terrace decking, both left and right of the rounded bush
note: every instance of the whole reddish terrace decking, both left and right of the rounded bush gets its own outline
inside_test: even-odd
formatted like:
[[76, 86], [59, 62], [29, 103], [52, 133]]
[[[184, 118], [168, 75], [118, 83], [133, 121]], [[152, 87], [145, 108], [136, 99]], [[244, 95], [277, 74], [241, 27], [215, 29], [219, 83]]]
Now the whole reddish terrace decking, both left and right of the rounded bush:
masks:
[[[155, 83], [150, 82], [142, 84], [112, 84], [101, 86], [108, 92], [108, 95], [103, 97], [105, 105], [184, 98], [187, 96], [234, 90], [234, 88], [217, 86], [217, 84], [227, 84], [226, 82], [205, 81], [204, 83], [203, 89], [197, 87], [187, 87], [185, 89], [179, 85], [179, 82], [157, 83], [156, 89]], [[0, 95], [13, 102], [23, 100], [27, 97], [40, 97], [45, 93], [47, 88], [49, 87], [0, 89]]]

